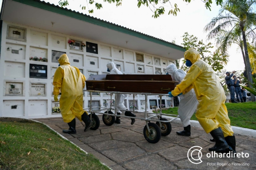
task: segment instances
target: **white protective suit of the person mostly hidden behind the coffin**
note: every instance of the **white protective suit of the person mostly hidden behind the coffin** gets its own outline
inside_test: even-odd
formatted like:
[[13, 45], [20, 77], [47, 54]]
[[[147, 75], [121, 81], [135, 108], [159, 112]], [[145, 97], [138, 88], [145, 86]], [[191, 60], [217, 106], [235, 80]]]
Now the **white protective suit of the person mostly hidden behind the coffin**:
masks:
[[[109, 73], [110, 75], [123, 75], [123, 73], [116, 68], [113, 62], [107, 63], [107, 68], [110, 70], [110, 73]], [[116, 94], [116, 95], [117, 95], [116, 109], [127, 110], [127, 108], [124, 105], [124, 99], [126, 98], [127, 95], [124, 95], [124, 94]], [[126, 111], [122, 111], [122, 112], [124, 114]]]

